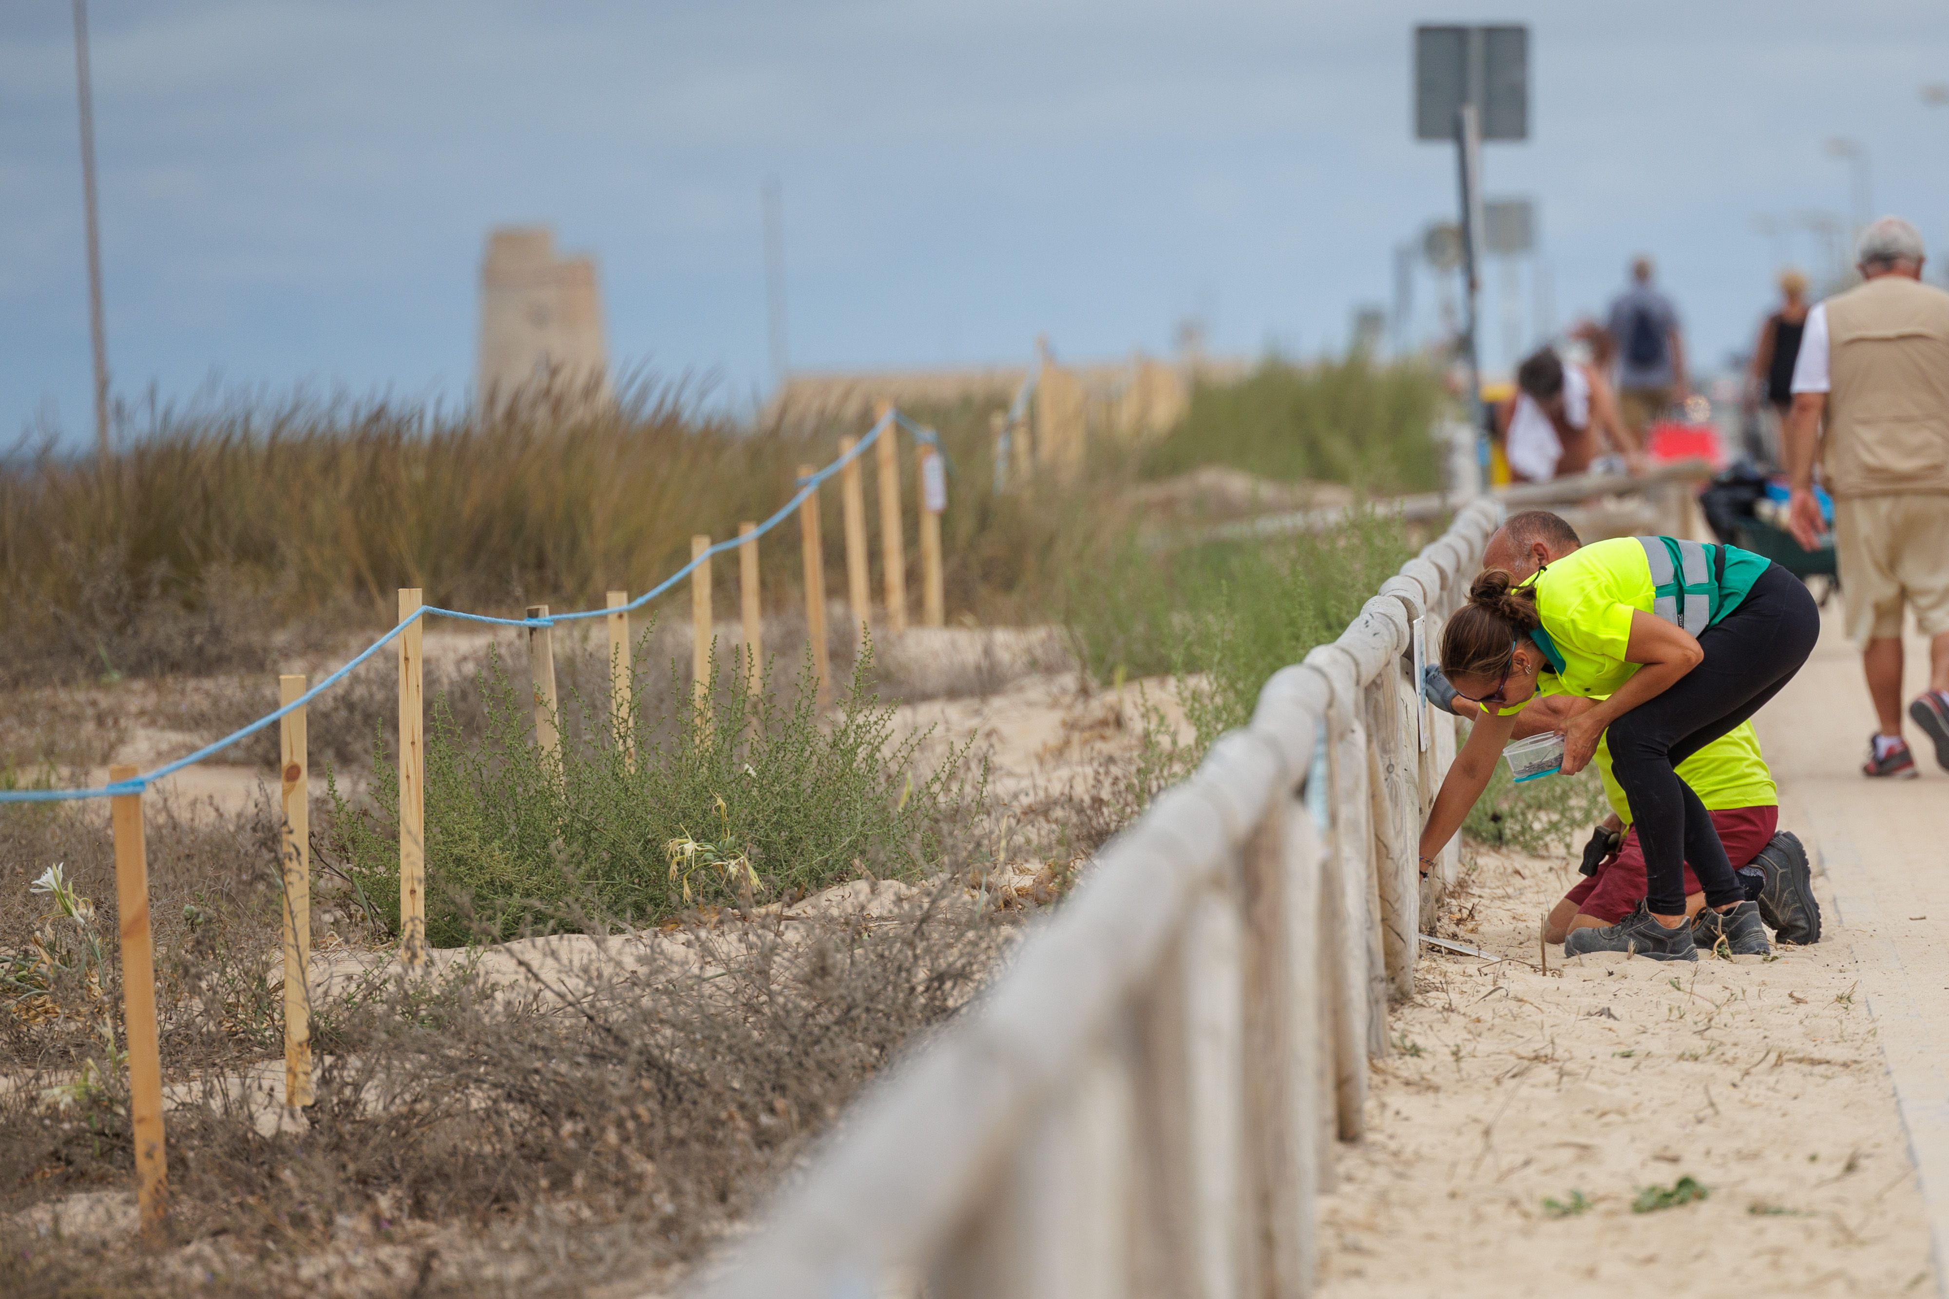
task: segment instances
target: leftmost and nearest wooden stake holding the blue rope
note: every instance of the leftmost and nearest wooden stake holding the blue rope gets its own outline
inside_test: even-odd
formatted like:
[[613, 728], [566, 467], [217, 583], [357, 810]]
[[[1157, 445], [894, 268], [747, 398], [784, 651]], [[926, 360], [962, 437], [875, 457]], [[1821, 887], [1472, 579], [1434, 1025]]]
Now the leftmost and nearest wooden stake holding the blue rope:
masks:
[[[134, 767], [109, 767], [109, 783]], [[170, 1211], [170, 1163], [162, 1145], [162, 1056], [156, 1034], [156, 952], [148, 931], [148, 849], [142, 795], [109, 798], [115, 826], [115, 911], [121, 919], [123, 1032], [129, 1048], [129, 1124], [134, 1128], [134, 1194], [142, 1233], [154, 1237]]]

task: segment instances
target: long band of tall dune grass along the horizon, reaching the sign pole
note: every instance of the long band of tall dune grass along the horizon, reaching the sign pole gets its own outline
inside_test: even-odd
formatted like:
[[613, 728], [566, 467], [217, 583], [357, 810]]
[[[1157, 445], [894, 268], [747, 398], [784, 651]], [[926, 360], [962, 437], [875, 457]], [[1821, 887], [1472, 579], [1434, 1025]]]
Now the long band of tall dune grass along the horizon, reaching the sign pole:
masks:
[[[1433, 380], [1364, 360], [1269, 360], [1199, 386], [1183, 425], [1150, 446], [1097, 442], [1070, 475], [994, 491], [998, 399], [908, 411], [949, 465], [947, 608], [980, 621], [1049, 621], [1074, 578], [1146, 520], [1127, 489], [1197, 464], [1368, 491], [1433, 481]], [[257, 670], [306, 629], [390, 623], [394, 592], [518, 612], [594, 608], [641, 592], [735, 536], [826, 464], [863, 419], [735, 423], [682, 386], [635, 384], [614, 405], [540, 399], [491, 419], [390, 399], [160, 407], [94, 458], [21, 446], [0, 458], [0, 602], [16, 650], [0, 682]], [[918, 598], [912, 438], [898, 436], [908, 590]], [[877, 512], [877, 462], [865, 489]], [[822, 493], [828, 590], [844, 590], [840, 493]], [[879, 586], [877, 518], [873, 532]], [[795, 526], [760, 543], [768, 608], [799, 598]], [[316, 637], [314, 637], [316, 639]]]

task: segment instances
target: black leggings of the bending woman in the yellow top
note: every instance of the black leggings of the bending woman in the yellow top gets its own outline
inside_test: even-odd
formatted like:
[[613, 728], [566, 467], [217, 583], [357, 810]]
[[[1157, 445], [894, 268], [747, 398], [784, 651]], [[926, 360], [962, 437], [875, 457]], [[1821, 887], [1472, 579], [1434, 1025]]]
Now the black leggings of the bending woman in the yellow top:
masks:
[[1797, 576], [1772, 565], [1725, 621], [1700, 635], [1700, 666], [1610, 724], [1610, 769], [1645, 849], [1645, 904], [1653, 913], [1684, 915], [1686, 863], [1707, 906], [1746, 896], [1705, 804], [1672, 767], [1758, 713], [1801, 670], [1818, 637], [1815, 598]]

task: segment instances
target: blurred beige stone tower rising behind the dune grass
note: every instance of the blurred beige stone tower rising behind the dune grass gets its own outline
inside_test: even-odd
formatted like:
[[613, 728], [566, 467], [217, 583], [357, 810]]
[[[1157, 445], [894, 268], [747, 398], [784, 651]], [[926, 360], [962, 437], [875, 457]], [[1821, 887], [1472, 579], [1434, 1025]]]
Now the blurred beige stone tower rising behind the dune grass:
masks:
[[596, 263], [557, 257], [548, 226], [487, 234], [474, 382], [481, 409], [550, 382], [567, 395], [610, 397]]

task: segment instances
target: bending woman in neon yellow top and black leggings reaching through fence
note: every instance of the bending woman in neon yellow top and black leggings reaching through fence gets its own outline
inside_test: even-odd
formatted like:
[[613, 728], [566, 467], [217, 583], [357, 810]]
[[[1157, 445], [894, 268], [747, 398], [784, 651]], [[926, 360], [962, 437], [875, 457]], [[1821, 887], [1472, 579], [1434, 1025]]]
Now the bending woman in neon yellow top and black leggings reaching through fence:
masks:
[[1740, 908], [1754, 906], [1711, 814], [1674, 767], [1779, 693], [1813, 652], [1820, 612], [1797, 576], [1735, 545], [1616, 538], [1538, 563], [1507, 532], [1489, 539], [1491, 567], [1442, 635], [1442, 672], [1487, 715], [1434, 797], [1421, 869], [1481, 798], [1516, 713], [1538, 691], [1596, 699], [1559, 726], [1563, 773], [1583, 771], [1608, 734], [1649, 888], [1637, 911], [1577, 929], [1563, 950], [1698, 960], [1686, 925], [1688, 861], [1723, 923], [1742, 923]]

